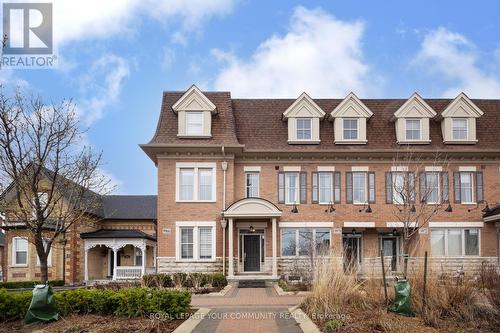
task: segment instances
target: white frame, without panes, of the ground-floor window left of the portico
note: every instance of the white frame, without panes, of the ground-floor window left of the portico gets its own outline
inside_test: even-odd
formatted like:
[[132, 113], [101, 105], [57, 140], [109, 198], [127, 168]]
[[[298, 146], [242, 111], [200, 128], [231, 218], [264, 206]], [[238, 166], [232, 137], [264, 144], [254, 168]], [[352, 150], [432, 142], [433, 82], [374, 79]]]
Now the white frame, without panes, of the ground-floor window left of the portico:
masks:
[[[215, 262], [216, 261], [216, 246], [217, 246], [217, 229], [215, 221], [177, 221], [175, 222], [175, 260], [179, 262]], [[200, 231], [199, 228], [212, 228], [212, 258], [200, 258]], [[193, 258], [183, 259], [181, 257], [181, 228], [193, 228]]]

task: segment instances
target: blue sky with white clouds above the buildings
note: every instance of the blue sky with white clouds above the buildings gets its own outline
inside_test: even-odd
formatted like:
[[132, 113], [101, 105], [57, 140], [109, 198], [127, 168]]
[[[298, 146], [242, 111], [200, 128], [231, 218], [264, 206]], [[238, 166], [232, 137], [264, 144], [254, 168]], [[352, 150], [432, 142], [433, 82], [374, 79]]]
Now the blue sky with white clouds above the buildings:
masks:
[[156, 194], [138, 147], [162, 92], [233, 97], [500, 98], [498, 1], [55, 0], [58, 67], [0, 71], [71, 99], [116, 194]]

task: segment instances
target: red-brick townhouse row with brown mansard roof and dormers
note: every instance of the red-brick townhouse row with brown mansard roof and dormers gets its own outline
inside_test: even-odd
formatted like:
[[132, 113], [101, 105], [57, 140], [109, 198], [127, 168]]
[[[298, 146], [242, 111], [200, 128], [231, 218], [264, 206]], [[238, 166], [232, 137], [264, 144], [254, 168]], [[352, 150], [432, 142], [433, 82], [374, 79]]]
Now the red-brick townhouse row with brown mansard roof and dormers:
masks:
[[[380, 250], [400, 269], [393, 159], [422, 154], [432, 200], [445, 202], [417, 235], [437, 269], [498, 262], [500, 100], [234, 99], [166, 92], [153, 139], [158, 170], [159, 272], [293, 275], [314, 251], [369, 272]], [[447, 167], [433, 156], [446, 155]], [[422, 175], [415, 175], [416, 181]], [[422, 178], [422, 179], [424, 179]], [[430, 199], [429, 199], [430, 200]], [[445, 209], [450, 204], [451, 209]], [[334, 208], [334, 209], [332, 209]], [[321, 253], [317, 253], [321, 254]]]

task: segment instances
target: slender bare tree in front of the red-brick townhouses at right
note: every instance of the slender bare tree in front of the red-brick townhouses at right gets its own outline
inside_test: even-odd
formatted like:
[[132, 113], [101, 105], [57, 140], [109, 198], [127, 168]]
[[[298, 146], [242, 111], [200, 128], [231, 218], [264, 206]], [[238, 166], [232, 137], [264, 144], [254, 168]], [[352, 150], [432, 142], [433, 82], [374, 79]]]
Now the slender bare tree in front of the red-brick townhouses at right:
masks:
[[436, 153], [416, 154], [411, 147], [398, 152], [393, 171], [386, 174], [386, 201], [393, 204], [393, 215], [402, 223], [403, 275], [408, 273], [410, 247], [419, 230], [449, 205], [447, 157]]

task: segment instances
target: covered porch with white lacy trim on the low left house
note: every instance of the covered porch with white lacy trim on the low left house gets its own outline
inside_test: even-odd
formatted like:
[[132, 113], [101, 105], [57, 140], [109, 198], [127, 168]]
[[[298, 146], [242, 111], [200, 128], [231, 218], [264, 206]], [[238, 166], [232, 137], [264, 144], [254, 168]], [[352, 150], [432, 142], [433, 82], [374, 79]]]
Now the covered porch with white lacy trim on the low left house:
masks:
[[82, 233], [85, 282], [130, 280], [156, 272], [156, 239], [139, 230]]

